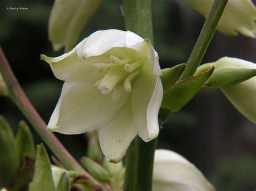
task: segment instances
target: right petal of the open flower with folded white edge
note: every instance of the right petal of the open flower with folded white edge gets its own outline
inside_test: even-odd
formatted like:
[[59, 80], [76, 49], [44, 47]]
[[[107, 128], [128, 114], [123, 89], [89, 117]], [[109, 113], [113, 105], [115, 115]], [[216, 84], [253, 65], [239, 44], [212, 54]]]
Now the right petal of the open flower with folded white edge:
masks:
[[158, 136], [158, 111], [163, 98], [160, 78], [152, 74], [149, 65], [144, 63], [131, 92], [133, 121], [144, 142]]

